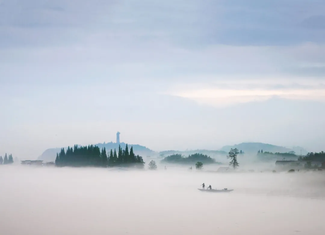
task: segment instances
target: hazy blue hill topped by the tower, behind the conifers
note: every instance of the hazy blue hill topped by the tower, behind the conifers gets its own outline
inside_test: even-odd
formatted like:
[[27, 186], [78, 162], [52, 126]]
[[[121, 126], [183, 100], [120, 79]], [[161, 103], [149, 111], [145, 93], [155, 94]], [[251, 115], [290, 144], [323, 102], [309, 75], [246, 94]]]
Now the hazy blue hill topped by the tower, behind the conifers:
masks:
[[[105, 147], [106, 148], [106, 152], [108, 154], [110, 154], [110, 150], [112, 149], [114, 151], [114, 148], [116, 149], [116, 152], [118, 151], [119, 145], [121, 145], [121, 147], [123, 149], [125, 149], [126, 143], [98, 143], [98, 144], [93, 144], [98, 146], [100, 149]], [[80, 146], [80, 145], [78, 145]], [[129, 149], [131, 148], [131, 146], [133, 147], [133, 152], [137, 155], [139, 154], [142, 157], [147, 157], [147, 156], [151, 156], [156, 154], [154, 151], [152, 151], [151, 149], [145, 147], [145, 146], [141, 146], [141, 145], [132, 145], [132, 144], [128, 144]], [[70, 146], [73, 147], [73, 146]], [[68, 146], [64, 147], [65, 150], [67, 150]], [[48, 161], [55, 161], [56, 155], [58, 152], [60, 152], [61, 148], [49, 148], [46, 149], [41, 156], [38, 157], [38, 160], [43, 160], [45, 162]]]

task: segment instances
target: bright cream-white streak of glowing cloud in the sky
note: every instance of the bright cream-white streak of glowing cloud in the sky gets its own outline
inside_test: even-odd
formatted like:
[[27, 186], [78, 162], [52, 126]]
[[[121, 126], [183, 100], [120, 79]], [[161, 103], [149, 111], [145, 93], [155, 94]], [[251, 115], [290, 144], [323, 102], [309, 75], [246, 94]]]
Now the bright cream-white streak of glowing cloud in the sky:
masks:
[[196, 84], [183, 89], [178, 86], [167, 94], [194, 100], [201, 104], [222, 107], [236, 103], [265, 101], [273, 97], [290, 100], [325, 101], [325, 86], [318, 80], [305, 81], [305, 84], [275, 84], [274, 82], [267, 84], [258, 80], [247, 83], [235, 80], [228, 84], [215, 83], [212, 86]]

